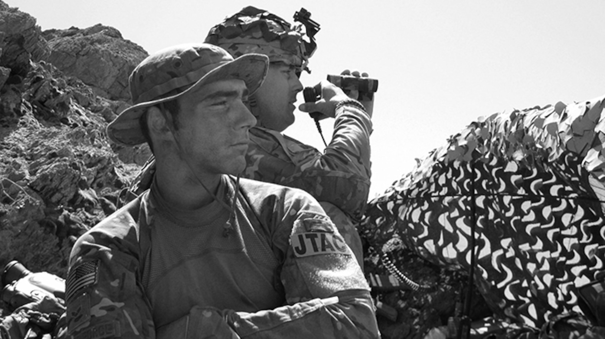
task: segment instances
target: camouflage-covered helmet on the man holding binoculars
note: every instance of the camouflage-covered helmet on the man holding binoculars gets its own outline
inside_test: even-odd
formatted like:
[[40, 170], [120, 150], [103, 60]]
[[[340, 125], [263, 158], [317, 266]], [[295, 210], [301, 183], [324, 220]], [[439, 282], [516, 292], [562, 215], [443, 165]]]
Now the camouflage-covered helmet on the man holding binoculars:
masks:
[[248, 6], [212, 27], [205, 42], [224, 48], [234, 57], [260, 53], [270, 62], [281, 61], [309, 71], [315, 41], [310, 47], [302, 39], [304, 35], [302, 25], [292, 27], [279, 16]]

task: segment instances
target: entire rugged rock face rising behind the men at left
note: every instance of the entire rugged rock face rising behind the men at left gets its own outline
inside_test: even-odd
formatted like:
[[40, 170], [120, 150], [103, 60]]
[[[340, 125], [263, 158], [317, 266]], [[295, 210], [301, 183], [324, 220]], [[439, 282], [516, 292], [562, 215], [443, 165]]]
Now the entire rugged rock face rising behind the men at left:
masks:
[[0, 268], [65, 277], [75, 239], [116, 210], [149, 156], [105, 135], [147, 53], [102, 25], [42, 33], [2, 1], [0, 48]]

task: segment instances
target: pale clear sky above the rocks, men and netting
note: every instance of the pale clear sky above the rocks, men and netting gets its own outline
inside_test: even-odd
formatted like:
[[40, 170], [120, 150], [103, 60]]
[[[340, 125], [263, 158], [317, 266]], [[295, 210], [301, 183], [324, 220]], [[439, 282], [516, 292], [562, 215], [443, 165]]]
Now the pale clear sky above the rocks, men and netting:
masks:
[[[306, 8], [321, 30], [302, 84], [344, 69], [379, 81], [370, 199], [481, 116], [605, 95], [603, 0], [4, 1], [42, 30], [100, 23], [148, 53], [201, 42], [247, 5], [290, 23]], [[313, 120], [295, 114], [284, 134], [322, 150]]]

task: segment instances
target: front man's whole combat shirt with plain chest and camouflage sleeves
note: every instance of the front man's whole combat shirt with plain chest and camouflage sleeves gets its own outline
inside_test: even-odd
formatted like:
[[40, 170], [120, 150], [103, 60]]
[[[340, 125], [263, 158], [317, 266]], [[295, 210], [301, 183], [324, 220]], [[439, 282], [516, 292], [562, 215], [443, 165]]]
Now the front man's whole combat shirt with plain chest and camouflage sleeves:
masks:
[[379, 337], [361, 268], [318, 203], [247, 179], [238, 189], [225, 176], [218, 196], [235, 192], [234, 215], [216, 201], [187, 214], [152, 187], [80, 237], [67, 279], [69, 334]]

